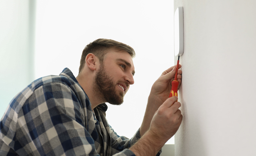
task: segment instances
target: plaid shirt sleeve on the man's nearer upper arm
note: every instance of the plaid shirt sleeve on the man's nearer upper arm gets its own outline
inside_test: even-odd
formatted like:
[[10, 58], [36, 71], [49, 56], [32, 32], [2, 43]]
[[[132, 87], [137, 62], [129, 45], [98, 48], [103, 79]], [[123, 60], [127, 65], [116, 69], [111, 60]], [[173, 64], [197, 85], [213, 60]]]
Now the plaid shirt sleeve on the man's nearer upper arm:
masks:
[[19, 113], [14, 149], [22, 147], [20, 155], [98, 156], [86, 126], [90, 124], [87, 115], [68, 86], [43, 85]]

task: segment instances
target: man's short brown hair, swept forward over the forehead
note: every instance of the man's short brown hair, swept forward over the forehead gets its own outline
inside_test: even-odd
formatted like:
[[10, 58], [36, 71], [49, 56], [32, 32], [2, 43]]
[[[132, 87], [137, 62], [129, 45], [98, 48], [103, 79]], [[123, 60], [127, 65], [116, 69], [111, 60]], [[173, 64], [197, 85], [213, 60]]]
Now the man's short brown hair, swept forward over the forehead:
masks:
[[85, 65], [85, 58], [87, 54], [93, 53], [95, 56], [97, 56], [102, 63], [104, 60], [104, 56], [106, 54], [107, 49], [109, 48], [115, 48], [118, 50], [124, 50], [128, 52], [132, 58], [135, 57], [135, 51], [132, 47], [129, 45], [126, 45], [124, 43], [112, 40], [112, 39], [104, 39], [100, 38], [97, 39], [91, 43], [89, 43], [83, 50], [81, 60], [80, 60], [80, 67], [79, 67], [79, 73], [83, 69]]

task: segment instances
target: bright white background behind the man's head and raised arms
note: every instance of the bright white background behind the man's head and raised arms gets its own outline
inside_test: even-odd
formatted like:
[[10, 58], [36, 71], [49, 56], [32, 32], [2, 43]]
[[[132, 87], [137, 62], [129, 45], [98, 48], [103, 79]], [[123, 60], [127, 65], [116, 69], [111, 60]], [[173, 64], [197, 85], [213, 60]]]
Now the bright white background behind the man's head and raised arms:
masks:
[[[173, 1], [37, 0], [34, 79], [58, 75], [65, 67], [77, 76], [84, 47], [98, 38], [114, 39], [135, 49], [135, 83], [124, 103], [108, 105], [107, 111], [114, 130], [132, 137], [142, 122], [152, 84], [174, 65]], [[167, 143], [174, 144], [174, 140]]]

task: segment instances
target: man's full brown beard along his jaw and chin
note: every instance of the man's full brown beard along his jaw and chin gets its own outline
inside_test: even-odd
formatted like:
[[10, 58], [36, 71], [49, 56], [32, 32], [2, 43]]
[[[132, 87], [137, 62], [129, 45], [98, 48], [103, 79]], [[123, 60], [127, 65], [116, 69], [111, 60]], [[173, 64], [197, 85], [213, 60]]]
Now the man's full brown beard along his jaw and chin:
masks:
[[116, 90], [117, 84], [114, 83], [104, 66], [100, 66], [94, 80], [94, 93], [98, 98], [113, 105], [121, 105], [124, 102], [124, 93]]

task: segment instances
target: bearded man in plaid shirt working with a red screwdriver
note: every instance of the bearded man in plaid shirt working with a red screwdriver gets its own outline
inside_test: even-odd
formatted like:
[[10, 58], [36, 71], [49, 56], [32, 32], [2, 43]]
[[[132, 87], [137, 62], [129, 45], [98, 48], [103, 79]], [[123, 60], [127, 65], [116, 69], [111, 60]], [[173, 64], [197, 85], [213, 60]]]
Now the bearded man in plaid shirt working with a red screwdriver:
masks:
[[85, 47], [77, 77], [65, 68], [32, 82], [1, 120], [0, 155], [159, 155], [182, 121], [177, 97], [168, 98], [174, 66], [153, 84], [133, 138], [118, 136], [105, 118], [105, 102], [122, 104], [134, 83], [134, 55], [126, 44], [98, 39]]

